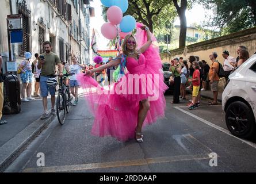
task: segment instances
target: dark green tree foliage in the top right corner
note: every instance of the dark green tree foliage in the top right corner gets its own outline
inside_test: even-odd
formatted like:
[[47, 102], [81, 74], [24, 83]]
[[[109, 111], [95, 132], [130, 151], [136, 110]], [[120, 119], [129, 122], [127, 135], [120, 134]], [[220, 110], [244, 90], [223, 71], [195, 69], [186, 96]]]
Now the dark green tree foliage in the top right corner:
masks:
[[213, 10], [214, 16], [209, 17], [206, 26], [221, 29], [222, 34], [237, 32], [256, 25], [255, 0], [197, 0], [207, 9]]

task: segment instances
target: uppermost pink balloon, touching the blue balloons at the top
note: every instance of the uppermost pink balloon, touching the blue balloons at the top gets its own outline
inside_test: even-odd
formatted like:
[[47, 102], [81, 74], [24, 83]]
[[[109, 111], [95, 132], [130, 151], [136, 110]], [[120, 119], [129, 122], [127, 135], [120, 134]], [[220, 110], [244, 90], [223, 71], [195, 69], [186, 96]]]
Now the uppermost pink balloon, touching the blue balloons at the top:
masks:
[[106, 16], [112, 24], [118, 25], [123, 18], [123, 11], [118, 6], [111, 6], [106, 11]]

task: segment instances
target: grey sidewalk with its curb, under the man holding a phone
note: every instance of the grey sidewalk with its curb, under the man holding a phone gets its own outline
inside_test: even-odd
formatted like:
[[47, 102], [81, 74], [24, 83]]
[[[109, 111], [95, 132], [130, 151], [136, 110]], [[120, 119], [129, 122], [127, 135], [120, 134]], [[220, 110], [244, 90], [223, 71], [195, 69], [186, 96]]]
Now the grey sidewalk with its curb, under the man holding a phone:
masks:
[[[48, 97], [48, 109], [50, 108], [51, 101]], [[8, 123], [0, 125], [0, 172], [56, 117], [51, 115], [40, 120], [41, 114], [43, 102], [42, 98], [37, 98], [35, 101], [21, 102], [20, 113], [3, 115], [2, 120], [7, 120]]]

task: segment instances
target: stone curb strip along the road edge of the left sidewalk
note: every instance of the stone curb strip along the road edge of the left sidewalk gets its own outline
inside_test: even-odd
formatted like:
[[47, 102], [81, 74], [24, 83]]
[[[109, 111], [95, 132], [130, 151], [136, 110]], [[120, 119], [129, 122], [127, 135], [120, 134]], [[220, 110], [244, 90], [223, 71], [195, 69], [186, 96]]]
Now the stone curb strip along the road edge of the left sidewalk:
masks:
[[26, 150], [26, 147], [41, 133], [47, 126], [54, 121], [56, 116], [49, 116], [44, 121], [40, 118], [32, 122], [20, 133], [14, 136], [0, 147], [0, 173], [6, 170], [8, 166], [18, 156]]

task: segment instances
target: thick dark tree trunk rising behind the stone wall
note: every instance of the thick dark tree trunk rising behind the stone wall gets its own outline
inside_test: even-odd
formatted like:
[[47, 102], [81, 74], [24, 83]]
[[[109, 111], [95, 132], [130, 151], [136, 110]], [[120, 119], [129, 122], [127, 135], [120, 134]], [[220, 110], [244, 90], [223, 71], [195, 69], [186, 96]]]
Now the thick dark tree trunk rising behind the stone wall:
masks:
[[187, 0], [181, 0], [181, 6], [178, 5], [177, 0], [173, 0], [174, 6], [177, 10], [180, 24], [181, 24], [181, 30], [179, 32], [179, 48], [186, 46], [186, 8], [188, 7], [188, 1]]

